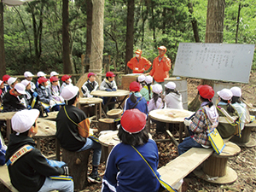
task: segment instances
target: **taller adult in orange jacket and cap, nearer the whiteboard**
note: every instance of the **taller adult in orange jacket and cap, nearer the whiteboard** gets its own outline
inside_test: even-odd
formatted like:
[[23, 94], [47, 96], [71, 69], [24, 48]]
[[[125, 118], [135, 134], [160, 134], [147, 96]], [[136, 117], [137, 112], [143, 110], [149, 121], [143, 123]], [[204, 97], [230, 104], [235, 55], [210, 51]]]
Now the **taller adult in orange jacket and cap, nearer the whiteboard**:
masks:
[[154, 78], [154, 81], [163, 86], [166, 78], [169, 78], [169, 71], [171, 69], [171, 60], [165, 56], [166, 47], [160, 46], [158, 48], [159, 56], [154, 58], [153, 67], [149, 73]]

